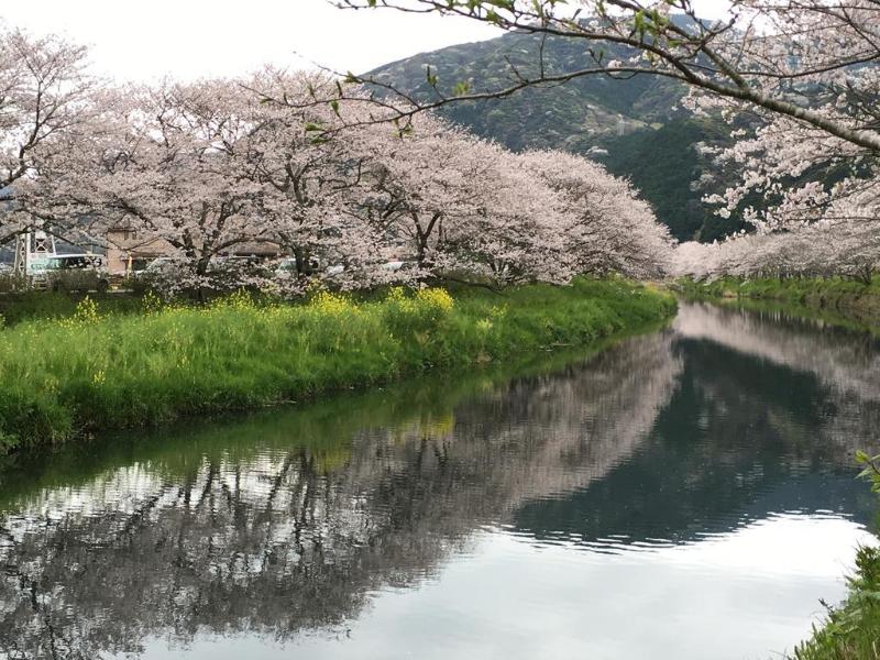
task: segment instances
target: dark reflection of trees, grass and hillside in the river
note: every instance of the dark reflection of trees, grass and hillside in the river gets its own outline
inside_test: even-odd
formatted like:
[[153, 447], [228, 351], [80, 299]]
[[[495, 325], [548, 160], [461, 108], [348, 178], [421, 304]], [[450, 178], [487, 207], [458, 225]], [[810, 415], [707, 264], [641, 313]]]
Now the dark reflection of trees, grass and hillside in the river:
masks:
[[19, 459], [0, 482], [0, 658], [339, 634], [484, 526], [626, 551], [790, 508], [864, 516], [848, 464], [880, 405], [878, 353], [827, 338], [685, 306], [674, 328], [549, 375]]

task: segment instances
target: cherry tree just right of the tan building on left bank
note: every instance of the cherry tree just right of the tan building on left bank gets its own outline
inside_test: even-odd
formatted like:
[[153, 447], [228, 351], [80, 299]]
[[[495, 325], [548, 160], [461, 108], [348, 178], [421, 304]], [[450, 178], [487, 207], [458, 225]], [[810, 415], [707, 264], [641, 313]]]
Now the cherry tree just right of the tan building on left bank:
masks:
[[358, 211], [374, 185], [369, 169], [394, 132], [370, 127], [328, 139], [323, 134], [329, 129], [356, 122], [352, 103], [290, 112], [262, 103], [249, 90], [304, 99], [331, 85], [326, 76], [266, 69], [240, 89], [243, 111], [255, 127], [248, 156], [250, 176], [258, 186], [258, 215], [292, 255], [290, 273], [300, 283], [328, 265], [344, 266], [351, 274], [378, 258], [376, 228]]

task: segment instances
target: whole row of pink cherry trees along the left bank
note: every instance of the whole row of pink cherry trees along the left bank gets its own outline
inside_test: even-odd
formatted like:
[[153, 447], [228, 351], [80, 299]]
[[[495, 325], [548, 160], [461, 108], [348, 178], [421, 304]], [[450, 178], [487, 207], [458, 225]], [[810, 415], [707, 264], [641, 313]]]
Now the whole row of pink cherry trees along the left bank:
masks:
[[403, 127], [358, 99], [305, 102], [338, 85], [328, 76], [114, 87], [57, 37], [4, 33], [0, 55], [6, 238], [124, 230], [162, 245], [187, 286], [210, 284], [221, 255], [271, 244], [292, 292], [315, 277], [564, 283], [668, 265], [667, 229], [602, 167], [515, 154], [429, 113]]

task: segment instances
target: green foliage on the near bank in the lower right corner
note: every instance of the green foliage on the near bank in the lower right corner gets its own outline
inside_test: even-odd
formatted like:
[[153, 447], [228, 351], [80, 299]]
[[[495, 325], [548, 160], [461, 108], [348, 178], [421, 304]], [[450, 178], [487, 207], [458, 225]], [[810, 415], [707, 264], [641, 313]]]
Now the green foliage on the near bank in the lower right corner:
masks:
[[[880, 457], [859, 452], [866, 465], [860, 476], [880, 493]], [[856, 572], [849, 579], [849, 595], [839, 607], [828, 609], [822, 628], [794, 650], [795, 660], [866, 660], [880, 658], [880, 548], [859, 548]]]

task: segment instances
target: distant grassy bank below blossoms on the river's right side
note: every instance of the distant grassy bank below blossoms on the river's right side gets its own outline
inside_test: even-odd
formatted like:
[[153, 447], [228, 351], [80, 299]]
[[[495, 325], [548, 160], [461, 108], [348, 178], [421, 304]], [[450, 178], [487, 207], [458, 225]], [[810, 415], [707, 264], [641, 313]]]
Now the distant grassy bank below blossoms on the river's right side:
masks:
[[[680, 279], [675, 288], [688, 297], [714, 300], [779, 302], [796, 311], [803, 308], [827, 320], [880, 331], [880, 282], [866, 285], [840, 277], [756, 278], [724, 277], [713, 282]], [[834, 317], [838, 317], [835, 319]]]

